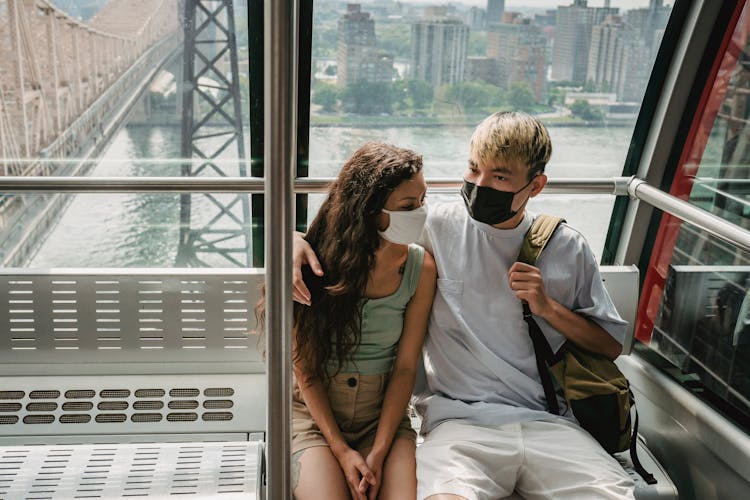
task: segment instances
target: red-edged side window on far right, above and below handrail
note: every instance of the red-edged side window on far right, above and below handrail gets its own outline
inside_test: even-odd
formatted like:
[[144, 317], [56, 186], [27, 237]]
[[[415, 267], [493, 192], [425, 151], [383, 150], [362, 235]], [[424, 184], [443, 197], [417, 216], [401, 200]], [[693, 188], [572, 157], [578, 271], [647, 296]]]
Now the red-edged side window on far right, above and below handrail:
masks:
[[[750, 9], [727, 33], [671, 194], [750, 227]], [[739, 230], [739, 229], [738, 229]], [[663, 216], [641, 297], [636, 336], [699, 396], [750, 415], [750, 254]], [[718, 399], [716, 399], [718, 398]], [[734, 411], [734, 410], [730, 410]]]

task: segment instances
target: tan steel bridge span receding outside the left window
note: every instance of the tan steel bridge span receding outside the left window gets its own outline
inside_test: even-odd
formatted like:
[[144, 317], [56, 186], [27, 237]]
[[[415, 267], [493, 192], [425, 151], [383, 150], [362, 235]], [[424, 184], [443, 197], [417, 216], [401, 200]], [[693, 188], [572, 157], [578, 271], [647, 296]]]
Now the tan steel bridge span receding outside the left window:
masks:
[[[179, 3], [108, 0], [84, 23], [0, 0], [0, 176], [85, 175], [177, 48]], [[69, 199], [0, 194], [0, 263], [24, 265]]]

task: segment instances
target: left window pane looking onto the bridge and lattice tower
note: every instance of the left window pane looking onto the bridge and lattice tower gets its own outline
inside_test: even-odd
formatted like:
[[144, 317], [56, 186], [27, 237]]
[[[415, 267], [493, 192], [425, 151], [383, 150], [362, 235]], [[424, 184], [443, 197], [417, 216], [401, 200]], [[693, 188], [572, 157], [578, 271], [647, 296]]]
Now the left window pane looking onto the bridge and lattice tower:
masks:
[[[247, 3], [0, 9], [0, 175], [249, 175]], [[0, 197], [0, 262], [247, 265], [245, 196]]]

